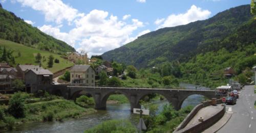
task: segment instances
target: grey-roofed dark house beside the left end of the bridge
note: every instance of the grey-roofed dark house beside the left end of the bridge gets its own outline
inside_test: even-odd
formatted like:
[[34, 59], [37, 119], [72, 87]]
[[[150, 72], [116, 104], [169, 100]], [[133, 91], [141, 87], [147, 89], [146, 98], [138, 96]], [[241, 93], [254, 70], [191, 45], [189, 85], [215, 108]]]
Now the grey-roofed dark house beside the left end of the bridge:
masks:
[[48, 69], [30, 69], [25, 73], [25, 85], [50, 85], [53, 73]]

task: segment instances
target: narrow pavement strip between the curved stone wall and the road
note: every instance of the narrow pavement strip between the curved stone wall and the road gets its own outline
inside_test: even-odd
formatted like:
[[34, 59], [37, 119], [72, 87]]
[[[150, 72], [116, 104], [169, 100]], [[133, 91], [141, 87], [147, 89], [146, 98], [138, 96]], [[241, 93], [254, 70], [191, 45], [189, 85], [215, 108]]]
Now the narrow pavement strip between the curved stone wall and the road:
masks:
[[207, 128], [206, 130], [204, 130], [204, 133], [208, 133], [208, 132], [217, 132], [218, 130], [220, 130], [231, 118], [233, 113], [231, 112], [227, 112], [224, 114], [224, 116], [217, 121], [214, 125], [212, 125], [211, 127]]

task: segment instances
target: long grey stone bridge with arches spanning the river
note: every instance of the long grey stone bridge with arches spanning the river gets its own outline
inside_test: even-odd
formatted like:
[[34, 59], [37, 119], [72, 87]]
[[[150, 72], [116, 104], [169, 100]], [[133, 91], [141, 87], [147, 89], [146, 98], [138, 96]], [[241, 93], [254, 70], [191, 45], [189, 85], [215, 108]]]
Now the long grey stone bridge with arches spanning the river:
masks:
[[[84, 87], [84, 86], [63, 86], [53, 85], [51, 89], [45, 88], [49, 93], [63, 96], [66, 99], [75, 99], [80, 92], [90, 94], [95, 101], [95, 109], [106, 109], [106, 100], [110, 95], [120, 93], [129, 99], [131, 110], [140, 108], [139, 100], [152, 93], [164, 96], [173, 104], [176, 110], [181, 109], [183, 101], [190, 95], [198, 94], [207, 98], [218, 98], [216, 91], [212, 90], [183, 90], [183, 89], [154, 89], [154, 88], [118, 88], [118, 87]], [[43, 89], [44, 90], [44, 89]]]

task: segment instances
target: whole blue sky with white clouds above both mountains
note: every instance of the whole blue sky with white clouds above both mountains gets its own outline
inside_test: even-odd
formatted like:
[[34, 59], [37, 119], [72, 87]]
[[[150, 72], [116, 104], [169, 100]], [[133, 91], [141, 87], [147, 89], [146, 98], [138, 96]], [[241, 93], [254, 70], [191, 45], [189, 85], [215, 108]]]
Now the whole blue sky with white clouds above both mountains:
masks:
[[88, 55], [164, 27], [204, 20], [250, 0], [0, 0], [4, 9]]

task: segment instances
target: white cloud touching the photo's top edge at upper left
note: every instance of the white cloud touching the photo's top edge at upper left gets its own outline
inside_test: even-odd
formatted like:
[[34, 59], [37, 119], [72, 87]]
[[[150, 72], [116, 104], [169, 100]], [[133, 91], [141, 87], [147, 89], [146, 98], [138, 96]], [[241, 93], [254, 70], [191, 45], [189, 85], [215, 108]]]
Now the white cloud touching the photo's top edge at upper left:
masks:
[[31, 7], [36, 11], [40, 11], [45, 14], [46, 21], [55, 21], [56, 23], [61, 23], [63, 20], [71, 22], [78, 16], [78, 11], [66, 4], [63, 4], [61, 0], [16, 0], [23, 6]]

